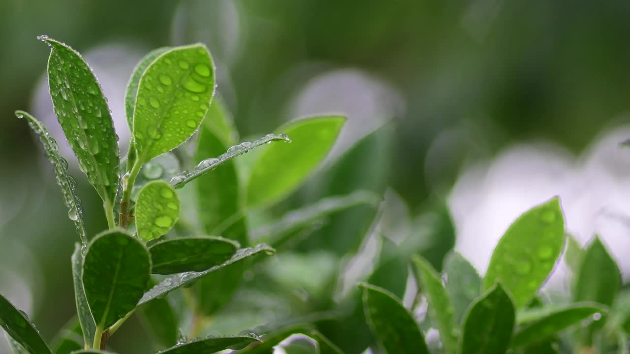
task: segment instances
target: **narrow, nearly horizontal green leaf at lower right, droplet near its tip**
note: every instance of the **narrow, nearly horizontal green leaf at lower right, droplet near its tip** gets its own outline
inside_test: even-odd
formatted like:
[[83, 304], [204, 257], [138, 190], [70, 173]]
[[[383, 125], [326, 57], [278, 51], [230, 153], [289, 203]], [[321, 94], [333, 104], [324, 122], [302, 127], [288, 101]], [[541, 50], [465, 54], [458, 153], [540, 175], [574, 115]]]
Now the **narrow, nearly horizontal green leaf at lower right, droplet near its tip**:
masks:
[[556, 309], [519, 328], [512, 341], [512, 346], [524, 346], [535, 341], [545, 340], [553, 334], [603, 311], [604, 309], [596, 304], [571, 304], [563, 309]]

